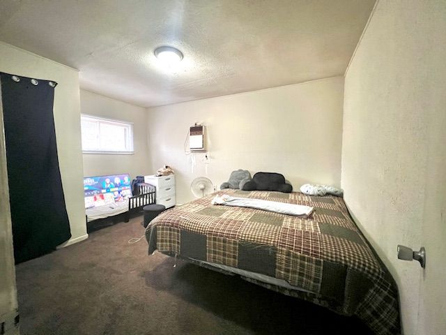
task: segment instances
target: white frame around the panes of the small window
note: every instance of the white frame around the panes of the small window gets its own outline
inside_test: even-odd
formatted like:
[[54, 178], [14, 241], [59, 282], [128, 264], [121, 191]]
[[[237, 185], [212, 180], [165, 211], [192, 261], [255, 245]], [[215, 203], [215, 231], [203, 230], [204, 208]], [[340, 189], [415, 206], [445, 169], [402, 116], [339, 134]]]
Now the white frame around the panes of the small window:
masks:
[[[98, 129], [96, 136], [100, 137], [100, 124], [112, 124], [114, 126], [122, 126], [126, 129], [127, 133], [125, 135], [125, 147], [128, 147], [128, 150], [106, 150], [101, 147], [98, 149], [88, 149], [84, 150], [84, 146], [82, 145], [82, 154], [112, 154], [112, 155], [133, 155], [134, 154], [134, 137], [133, 137], [133, 122], [117, 120], [117, 119], [108, 119], [106, 117], [97, 117], [91, 114], [81, 114], [81, 137], [82, 137], [82, 121], [83, 118], [91, 119], [92, 121], [98, 122]], [[100, 140], [98, 140], [100, 144]]]

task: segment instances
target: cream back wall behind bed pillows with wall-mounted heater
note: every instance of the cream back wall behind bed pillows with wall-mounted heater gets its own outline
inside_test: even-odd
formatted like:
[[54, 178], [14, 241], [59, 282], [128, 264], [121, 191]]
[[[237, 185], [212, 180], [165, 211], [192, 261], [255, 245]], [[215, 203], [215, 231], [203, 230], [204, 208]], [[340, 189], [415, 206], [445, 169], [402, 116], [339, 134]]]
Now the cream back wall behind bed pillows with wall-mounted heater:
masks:
[[[344, 78], [293, 84], [148, 109], [151, 173], [176, 172], [176, 202], [192, 200], [190, 182], [208, 176], [217, 189], [231, 171], [279, 172], [295, 190], [306, 182], [339, 186]], [[204, 154], [183, 151], [189, 127], [208, 130]]]

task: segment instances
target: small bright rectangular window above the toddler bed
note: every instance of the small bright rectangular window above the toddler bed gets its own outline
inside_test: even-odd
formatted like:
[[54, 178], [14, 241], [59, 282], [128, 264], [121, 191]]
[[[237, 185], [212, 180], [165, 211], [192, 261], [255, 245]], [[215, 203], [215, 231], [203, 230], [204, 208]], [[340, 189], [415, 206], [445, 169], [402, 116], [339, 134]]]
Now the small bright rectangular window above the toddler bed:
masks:
[[84, 154], [133, 154], [133, 124], [81, 115]]

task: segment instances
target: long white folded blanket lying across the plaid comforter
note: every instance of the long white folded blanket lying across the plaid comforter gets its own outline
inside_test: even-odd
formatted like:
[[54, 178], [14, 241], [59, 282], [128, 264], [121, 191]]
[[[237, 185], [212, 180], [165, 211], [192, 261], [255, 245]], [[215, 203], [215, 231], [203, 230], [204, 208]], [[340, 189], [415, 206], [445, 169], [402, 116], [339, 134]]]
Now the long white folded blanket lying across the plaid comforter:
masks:
[[230, 195], [218, 195], [213, 198], [211, 204], [224, 204], [226, 206], [249, 207], [255, 209], [263, 209], [264, 211], [274, 211], [275, 213], [309, 216], [312, 214], [313, 207], [304, 206], [302, 204], [286, 204], [284, 202], [276, 202], [269, 200], [259, 200], [251, 198], [235, 198]]

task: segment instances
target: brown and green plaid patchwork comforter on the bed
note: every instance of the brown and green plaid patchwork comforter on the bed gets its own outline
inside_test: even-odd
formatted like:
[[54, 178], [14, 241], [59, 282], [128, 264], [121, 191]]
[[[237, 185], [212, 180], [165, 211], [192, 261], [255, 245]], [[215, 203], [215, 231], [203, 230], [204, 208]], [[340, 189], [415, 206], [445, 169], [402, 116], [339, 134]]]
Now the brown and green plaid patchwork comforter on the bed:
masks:
[[[211, 205], [216, 194], [305, 204], [309, 218]], [[164, 211], [147, 227], [148, 252], [203, 260], [284, 279], [297, 295], [376, 334], [400, 334], [397, 285], [353, 223], [344, 200], [302, 193], [224, 190]]]

